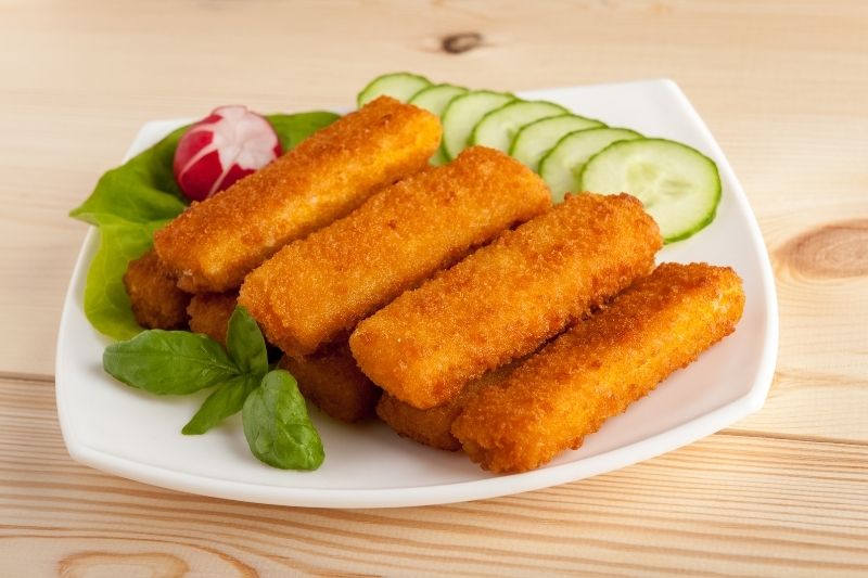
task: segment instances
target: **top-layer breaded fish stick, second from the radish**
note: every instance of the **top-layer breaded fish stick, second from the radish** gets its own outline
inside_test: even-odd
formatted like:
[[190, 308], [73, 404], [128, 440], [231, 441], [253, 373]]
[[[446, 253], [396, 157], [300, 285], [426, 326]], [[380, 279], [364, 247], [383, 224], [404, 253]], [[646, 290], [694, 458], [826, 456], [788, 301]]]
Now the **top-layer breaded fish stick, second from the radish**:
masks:
[[271, 343], [306, 356], [550, 206], [548, 188], [524, 165], [492, 149], [468, 149], [282, 248], [247, 275], [239, 303]]

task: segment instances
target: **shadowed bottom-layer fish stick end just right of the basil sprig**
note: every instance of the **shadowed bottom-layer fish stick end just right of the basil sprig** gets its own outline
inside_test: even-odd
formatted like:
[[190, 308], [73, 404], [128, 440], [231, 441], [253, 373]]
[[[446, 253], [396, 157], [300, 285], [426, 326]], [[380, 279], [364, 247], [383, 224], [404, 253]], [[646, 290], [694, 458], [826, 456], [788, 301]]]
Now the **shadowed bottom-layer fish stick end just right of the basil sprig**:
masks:
[[283, 356], [280, 367], [293, 374], [305, 398], [332, 418], [357, 422], [373, 416], [382, 389], [356, 367], [346, 342], [301, 359]]

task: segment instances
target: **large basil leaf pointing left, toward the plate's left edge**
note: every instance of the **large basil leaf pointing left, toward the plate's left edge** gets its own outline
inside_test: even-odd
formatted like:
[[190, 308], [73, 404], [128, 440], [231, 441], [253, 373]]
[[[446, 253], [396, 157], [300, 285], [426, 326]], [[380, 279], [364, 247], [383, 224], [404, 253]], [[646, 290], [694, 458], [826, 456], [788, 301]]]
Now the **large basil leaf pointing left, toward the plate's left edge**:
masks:
[[132, 387], [157, 395], [184, 395], [240, 372], [219, 343], [187, 331], [143, 331], [105, 348], [103, 369]]

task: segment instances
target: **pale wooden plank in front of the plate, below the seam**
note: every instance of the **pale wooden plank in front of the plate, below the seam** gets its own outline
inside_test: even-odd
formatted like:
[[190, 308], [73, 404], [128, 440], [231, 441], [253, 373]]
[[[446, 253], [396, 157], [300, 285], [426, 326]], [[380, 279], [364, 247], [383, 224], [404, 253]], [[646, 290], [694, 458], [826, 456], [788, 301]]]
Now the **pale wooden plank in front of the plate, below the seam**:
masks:
[[64, 576], [868, 571], [868, 445], [724, 432], [510, 498], [305, 510], [175, 493], [77, 465], [50, 383], [0, 381], [0, 411], [3, 576], [37, 551], [28, 567]]

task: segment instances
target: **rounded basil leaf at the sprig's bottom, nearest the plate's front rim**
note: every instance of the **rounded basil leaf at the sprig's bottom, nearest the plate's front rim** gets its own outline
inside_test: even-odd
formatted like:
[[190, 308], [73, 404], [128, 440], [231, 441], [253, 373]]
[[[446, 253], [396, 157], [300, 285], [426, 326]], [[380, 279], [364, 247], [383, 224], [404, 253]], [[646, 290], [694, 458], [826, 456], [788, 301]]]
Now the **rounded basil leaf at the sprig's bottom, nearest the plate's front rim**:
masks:
[[322, 440], [289, 372], [267, 373], [241, 416], [247, 445], [260, 461], [281, 470], [316, 470], [322, 463]]

